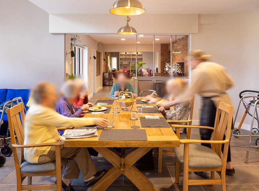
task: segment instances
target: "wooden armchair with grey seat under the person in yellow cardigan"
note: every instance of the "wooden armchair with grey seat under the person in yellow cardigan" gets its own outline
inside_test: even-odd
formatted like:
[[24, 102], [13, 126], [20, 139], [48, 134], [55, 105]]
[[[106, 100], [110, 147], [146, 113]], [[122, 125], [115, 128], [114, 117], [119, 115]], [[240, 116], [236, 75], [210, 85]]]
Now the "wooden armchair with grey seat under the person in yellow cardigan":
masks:
[[[21, 116], [21, 119], [19, 117]], [[20, 190], [62, 190], [61, 170], [66, 164], [67, 159], [61, 160], [60, 149], [64, 145], [64, 142], [55, 143], [43, 143], [43, 144], [32, 144], [23, 145], [24, 132], [23, 132], [23, 120], [24, 110], [22, 103], [7, 109], [7, 117], [10, 128], [11, 142], [13, 146], [13, 157], [15, 163], [15, 171], [17, 178], [17, 191]], [[15, 134], [19, 144], [16, 144]], [[23, 148], [32, 147], [46, 147], [55, 146], [56, 161], [45, 163], [45, 164], [31, 164], [24, 159]], [[19, 160], [17, 148], [20, 148], [21, 157]], [[56, 176], [57, 184], [37, 184], [32, 185], [32, 176]], [[25, 178], [28, 177], [28, 184], [23, 184]]]

